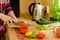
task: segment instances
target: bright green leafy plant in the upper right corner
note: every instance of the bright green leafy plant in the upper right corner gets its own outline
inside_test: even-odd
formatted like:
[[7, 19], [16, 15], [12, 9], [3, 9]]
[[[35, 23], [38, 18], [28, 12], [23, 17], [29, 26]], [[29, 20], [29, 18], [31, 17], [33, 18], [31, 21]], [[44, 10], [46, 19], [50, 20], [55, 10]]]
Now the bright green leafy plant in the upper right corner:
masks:
[[60, 22], [60, 1], [54, 0], [51, 4], [51, 17]]

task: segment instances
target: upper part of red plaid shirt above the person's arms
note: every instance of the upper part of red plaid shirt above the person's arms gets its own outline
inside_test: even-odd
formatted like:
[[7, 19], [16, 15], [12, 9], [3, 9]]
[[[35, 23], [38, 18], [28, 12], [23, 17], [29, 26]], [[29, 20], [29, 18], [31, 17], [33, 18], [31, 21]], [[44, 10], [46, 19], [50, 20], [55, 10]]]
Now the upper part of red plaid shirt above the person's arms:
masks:
[[2, 0], [0, 3], [0, 13], [12, 11], [9, 0]]

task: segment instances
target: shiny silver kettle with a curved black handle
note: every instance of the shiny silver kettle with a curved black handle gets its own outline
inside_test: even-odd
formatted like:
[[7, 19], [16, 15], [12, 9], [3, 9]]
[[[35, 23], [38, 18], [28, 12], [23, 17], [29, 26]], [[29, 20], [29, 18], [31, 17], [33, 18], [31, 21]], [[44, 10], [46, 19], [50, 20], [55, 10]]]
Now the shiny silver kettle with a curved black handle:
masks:
[[43, 5], [40, 3], [32, 3], [29, 6], [29, 13], [32, 15], [32, 20], [43, 18]]

